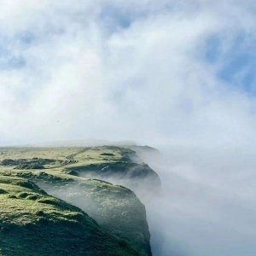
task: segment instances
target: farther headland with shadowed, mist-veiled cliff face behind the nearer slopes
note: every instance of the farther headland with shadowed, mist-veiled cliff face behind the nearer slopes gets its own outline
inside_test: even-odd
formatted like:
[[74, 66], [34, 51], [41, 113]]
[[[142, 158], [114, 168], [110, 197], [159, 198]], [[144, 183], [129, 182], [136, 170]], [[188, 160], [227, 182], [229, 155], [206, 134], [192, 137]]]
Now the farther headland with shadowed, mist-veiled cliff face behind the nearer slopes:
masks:
[[85, 155], [80, 155], [79, 163], [67, 166], [64, 172], [123, 185], [134, 191], [139, 198], [161, 195], [160, 177], [131, 148], [90, 148], [86, 156], [89, 161], [86, 161]]

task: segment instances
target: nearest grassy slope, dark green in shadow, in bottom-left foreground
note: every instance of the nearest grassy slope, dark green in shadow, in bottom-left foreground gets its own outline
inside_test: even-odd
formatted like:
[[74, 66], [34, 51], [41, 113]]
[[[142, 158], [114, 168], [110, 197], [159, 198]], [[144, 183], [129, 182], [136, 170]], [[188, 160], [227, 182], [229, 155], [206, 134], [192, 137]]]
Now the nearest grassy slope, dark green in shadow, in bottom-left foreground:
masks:
[[34, 183], [0, 176], [0, 255], [141, 255], [78, 207]]

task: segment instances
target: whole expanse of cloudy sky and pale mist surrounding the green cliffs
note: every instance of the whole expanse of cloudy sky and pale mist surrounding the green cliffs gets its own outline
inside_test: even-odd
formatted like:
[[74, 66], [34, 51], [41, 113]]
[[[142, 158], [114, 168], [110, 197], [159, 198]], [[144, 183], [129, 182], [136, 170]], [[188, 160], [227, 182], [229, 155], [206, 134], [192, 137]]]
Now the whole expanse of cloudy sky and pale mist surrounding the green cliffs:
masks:
[[253, 256], [255, 40], [253, 0], [0, 0], [0, 146], [160, 148], [173, 256]]

